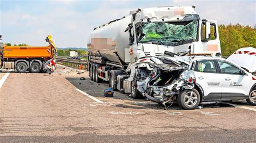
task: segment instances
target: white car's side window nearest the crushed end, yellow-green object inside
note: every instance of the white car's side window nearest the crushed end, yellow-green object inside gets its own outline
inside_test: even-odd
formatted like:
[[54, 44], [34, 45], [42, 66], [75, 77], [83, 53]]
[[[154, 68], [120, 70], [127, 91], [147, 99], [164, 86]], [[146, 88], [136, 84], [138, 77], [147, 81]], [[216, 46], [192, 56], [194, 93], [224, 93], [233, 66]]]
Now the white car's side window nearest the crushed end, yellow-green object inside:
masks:
[[197, 61], [194, 71], [199, 71], [202, 73], [217, 73], [214, 61], [211, 60]]

